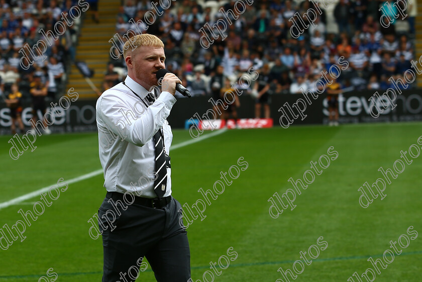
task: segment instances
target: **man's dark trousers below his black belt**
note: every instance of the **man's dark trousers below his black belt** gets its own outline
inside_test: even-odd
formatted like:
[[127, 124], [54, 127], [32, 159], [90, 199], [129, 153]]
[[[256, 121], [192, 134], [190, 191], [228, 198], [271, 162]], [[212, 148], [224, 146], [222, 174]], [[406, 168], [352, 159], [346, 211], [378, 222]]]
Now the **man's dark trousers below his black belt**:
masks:
[[167, 206], [154, 209], [135, 203], [116, 205], [109, 200], [105, 198], [98, 210], [104, 253], [102, 282], [135, 281], [142, 275], [139, 265], [144, 256], [158, 282], [186, 282], [190, 251], [186, 230], [179, 223], [180, 203], [172, 198]]

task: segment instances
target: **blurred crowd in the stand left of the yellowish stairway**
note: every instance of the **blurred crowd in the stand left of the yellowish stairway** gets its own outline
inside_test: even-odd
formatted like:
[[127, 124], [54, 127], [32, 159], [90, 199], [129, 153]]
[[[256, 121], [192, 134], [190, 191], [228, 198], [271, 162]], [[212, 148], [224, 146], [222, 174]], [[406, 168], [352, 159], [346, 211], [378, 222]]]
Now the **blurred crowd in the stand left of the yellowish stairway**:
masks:
[[[41, 77], [51, 98], [64, 89], [66, 67], [75, 57], [76, 30], [80, 21], [67, 27], [51, 46], [47, 44], [45, 59], [39, 52], [32, 50], [34, 56], [23, 47], [28, 44], [32, 48], [39, 40], [52, 40], [46, 39], [40, 31], [48, 33], [51, 30], [54, 33], [54, 24], [63, 21], [61, 13], [69, 13], [76, 3], [71, 0], [0, 1], [0, 78], [4, 95], [7, 96], [11, 85], [16, 83], [24, 97], [29, 97], [34, 76]], [[58, 27], [62, 32], [62, 26]], [[24, 54], [34, 59], [28, 69], [20, 64]]]

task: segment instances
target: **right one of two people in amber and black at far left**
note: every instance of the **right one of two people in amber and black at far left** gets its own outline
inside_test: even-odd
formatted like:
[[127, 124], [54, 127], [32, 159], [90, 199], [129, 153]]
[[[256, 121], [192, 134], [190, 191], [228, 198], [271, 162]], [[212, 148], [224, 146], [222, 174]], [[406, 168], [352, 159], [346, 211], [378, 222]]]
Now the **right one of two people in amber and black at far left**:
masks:
[[37, 128], [34, 125], [37, 125], [38, 121], [38, 110], [41, 112], [42, 115], [42, 124], [45, 128], [44, 133], [45, 134], [51, 134], [51, 130], [48, 128], [48, 125], [46, 121], [44, 120], [44, 115], [46, 113], [46, 107], [45, 107], [45, 97], [47, 96], [47, 87], [41, 82], [41, 75], [37, 74], [34, 76], [34, 81], [31, 83], [31, 89], [30, 89], [31, 97], [32, 97], [32, 120], [33, 120], [33, 128], [31, 129], [31, 133], [33, 135], [36, 134], [36, 132], [39, 132], [39, 135], [41, 134], [41, 127]]

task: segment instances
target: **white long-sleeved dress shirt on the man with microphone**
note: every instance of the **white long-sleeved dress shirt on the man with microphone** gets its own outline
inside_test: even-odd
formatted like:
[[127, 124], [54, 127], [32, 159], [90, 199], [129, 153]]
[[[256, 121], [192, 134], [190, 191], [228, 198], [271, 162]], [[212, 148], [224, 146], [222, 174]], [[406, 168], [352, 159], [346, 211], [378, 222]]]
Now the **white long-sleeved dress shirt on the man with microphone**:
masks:
[[[149, 104], [145, 98], [148, 95], [147, 89], [129, 76], [125, 83]], [[163, 128], [165, 152], [169, 154], [173, 134], [166, 119], [176, 99], [164, 91], [147, 108], [127, 86], [119, 83], [104, 91], [96, 103], [99, 160], [104, 170], [104, 187], [109, 192], [135, 192], [136, 196], [156, 198], [153, 188], [153, 136]], [[171, 195], [170, 175], [171, 169], [167, 167], [164, 197]]]

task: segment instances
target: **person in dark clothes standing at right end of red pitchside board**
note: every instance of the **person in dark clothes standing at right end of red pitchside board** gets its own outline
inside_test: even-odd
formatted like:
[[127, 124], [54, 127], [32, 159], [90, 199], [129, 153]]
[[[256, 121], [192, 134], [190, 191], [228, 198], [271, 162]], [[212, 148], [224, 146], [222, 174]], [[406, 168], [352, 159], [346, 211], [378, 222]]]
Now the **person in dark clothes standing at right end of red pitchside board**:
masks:
[[255, 100], [255, 118], [261, 118], [261, 108], [264, 105], [264, 118], [270, 118], [270, 68], [268, 64], [264, 64], [262, 69], [259, 71], [258, 79], [254, 85], [254, 91], [258, 92]]

